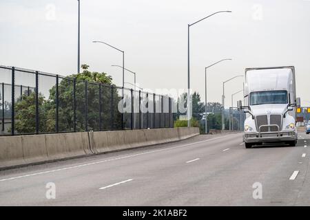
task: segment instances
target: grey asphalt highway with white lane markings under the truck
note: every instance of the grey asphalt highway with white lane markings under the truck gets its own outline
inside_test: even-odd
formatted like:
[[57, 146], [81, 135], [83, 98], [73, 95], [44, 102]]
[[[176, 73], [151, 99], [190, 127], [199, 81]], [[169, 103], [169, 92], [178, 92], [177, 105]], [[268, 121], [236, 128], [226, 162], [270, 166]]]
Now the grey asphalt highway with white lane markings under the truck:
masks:
[[246, 149], [242, 133], [0, 171], [0, 206], [309, 206], [310, 135]]

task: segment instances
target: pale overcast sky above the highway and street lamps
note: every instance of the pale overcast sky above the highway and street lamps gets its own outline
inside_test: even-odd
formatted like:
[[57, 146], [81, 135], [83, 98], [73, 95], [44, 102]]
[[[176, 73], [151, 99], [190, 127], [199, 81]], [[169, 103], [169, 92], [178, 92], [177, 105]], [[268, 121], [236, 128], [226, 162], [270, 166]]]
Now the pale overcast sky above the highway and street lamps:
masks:
[[[76, 0], [1, 0], [0, 65], [68, 75], [77, 69]], [[121, 85], [125, 67], [137, 73], [143, 88], [187, 87], [187, 24], [218, 10], [191, 28], [192, 89], [205, 100], [205, 66], [209, 101], [221, 102], [222, 82], [246, 67], [294, 65], [297, 93], [310, 105], [310, 1], [305, 0], [81, 0], [81, 63], [107, 72]], [[226, 107], [231, 94], [242, 89], [242, 78], [225, 87]], [[125, 74], [125, 82], [133, 76]], [[128, 86], [130, 87], [130, 85]], [[235, 100], [242, 99], [242, 94]], [[234, 103], [234, 105], [236, 105]]]

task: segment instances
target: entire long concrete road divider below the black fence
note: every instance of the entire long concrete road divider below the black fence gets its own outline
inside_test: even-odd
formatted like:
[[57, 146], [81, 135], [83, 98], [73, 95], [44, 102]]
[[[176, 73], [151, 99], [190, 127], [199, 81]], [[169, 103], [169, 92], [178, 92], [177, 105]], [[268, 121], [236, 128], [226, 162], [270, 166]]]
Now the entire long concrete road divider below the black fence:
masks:
[[167, 128], [0, 137], [0, 169], [175, 142], [198, 134], [198, 128]]

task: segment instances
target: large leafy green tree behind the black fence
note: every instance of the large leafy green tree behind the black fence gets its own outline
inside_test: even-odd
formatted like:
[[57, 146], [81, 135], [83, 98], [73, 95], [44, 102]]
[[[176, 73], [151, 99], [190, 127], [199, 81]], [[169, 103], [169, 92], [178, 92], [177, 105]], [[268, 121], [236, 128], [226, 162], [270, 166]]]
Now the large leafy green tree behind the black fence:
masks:
[[[112, 84], [112, 77], [106, 73], [90, 72], [88, 65], [81, 67], [83, 72], [59, 80], [59, 131], [69, 132], [74, 128], [74, 78], [76, 80], [76, 131], [85, 131], [85, 82], [87, 82], [88, 130], [99, 130], [99, 83], [101, 83], [103, 129], [111, 129], [111, 118], [114, 118], [114, 128], [120, 128], [121, 113], [118, 112], [118, 102], [121, 96]], [[22, 100], [17, 102], [15, 111], [17, 132], [34, 133], [34, 92], [30, 96], [23, 95]], [[48, 100], [39, 94], [39, 123], [40, 132], [56, 131], [56, 85], [50, 89]]]

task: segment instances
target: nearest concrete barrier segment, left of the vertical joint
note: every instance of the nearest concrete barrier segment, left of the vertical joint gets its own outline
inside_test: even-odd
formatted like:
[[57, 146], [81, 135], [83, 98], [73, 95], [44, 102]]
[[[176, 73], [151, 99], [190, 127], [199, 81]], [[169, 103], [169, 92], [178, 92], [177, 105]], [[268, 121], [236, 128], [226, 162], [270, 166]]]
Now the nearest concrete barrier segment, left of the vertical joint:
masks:
[[87, 132], [0, 137], [0, 168], [90, 154]]

